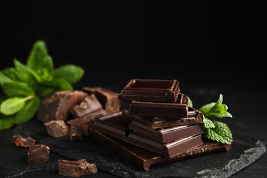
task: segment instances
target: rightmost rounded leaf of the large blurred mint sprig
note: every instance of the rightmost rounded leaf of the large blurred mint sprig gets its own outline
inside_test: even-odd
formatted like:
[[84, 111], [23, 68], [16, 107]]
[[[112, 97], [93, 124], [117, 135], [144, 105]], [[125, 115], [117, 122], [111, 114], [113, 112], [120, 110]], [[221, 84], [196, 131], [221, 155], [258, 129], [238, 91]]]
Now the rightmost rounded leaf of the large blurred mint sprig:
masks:
[[79, 81], [79, 79], [81, 79], [83, 75], [83, 68], [71, 64], [60, 66], [59, 68], [56, 68], [53, 73], [54, 77], [66, 79], [71, 84], [74, 84], [75, 82]]

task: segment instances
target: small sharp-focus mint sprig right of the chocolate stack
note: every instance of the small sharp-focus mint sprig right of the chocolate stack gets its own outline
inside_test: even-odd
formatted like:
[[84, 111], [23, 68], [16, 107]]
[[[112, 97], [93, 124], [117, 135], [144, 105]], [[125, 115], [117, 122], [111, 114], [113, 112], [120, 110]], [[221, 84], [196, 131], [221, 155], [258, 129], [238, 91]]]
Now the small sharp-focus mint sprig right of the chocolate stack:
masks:
[[223, 104], [223, 94], [220, 94], [216, 102], [209, 103], [199, 108], [203, 113], [203, 138], [221, 142], [223, 144], [231, 144], [233, 135], [229, 127], [218, 120], [209, 118], [232, 118], [233, 116], [227, 112], [227, 105]]

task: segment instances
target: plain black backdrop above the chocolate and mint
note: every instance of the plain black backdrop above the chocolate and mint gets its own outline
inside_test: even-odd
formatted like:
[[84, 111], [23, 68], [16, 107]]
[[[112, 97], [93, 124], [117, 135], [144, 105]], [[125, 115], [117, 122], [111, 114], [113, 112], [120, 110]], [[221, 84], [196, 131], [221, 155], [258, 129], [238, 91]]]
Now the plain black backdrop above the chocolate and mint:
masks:
[[81, 86], [131, 78], [183, 86], [261, 89], [263, 5], [245, 1], [8, 1], [1, 5], [1, 68], [25, 62], [36, 40], [54, 66], [86, 70]]

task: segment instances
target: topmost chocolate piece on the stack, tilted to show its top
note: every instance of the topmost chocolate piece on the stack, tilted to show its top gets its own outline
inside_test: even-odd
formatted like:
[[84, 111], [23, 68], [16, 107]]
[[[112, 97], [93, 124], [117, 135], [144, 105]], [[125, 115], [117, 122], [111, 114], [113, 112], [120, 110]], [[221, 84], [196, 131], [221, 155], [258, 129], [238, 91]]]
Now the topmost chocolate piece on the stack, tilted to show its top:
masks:
[[175, 103], [179, 91], [177, 79], [131, 79], [118, 94], [118, 99]]

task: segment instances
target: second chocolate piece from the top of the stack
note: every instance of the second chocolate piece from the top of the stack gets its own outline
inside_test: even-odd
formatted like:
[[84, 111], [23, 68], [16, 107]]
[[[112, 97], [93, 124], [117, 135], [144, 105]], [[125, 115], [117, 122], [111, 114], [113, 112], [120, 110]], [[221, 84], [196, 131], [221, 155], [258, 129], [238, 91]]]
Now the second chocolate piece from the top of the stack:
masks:
[[136, 116], [187, 118], [188, 105], [133, 101], [129, 105], [129, 114]]

